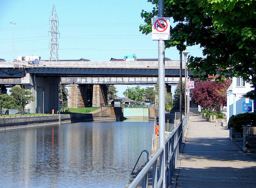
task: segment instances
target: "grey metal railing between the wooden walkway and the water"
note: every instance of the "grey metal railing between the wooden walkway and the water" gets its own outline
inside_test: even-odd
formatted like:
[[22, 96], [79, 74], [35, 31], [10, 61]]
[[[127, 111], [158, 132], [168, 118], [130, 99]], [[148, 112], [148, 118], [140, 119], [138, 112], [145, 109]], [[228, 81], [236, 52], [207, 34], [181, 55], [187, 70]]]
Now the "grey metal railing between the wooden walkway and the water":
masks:
[[[172, 175], [175, 168], [175, 163], [178, 158], [179, 149], [182, 143], [183, 135], [187, 128], [187, 116], [185, 116], [179, 125], [172, 131], [172, 134], [165, 139], [165, 148], [159, 148], [156, 154], [148, 161], [145, 167], [140, 173], [134, 178], [129, 188], [138, 187], [142, 183], [142, 187], [148, 187], [148, 172], [153, 168], [152, 171], [152, 186], [162, 187], [164, 176], [165, 185], [172, 184]], [[165, 151], [165, 152], [164, 152]], [[164, 161], [165, 154], [165, 161]], [[159, 166], [157, 168], [157, 161]], [[157, 180], [158, 179], [158, 180]]]

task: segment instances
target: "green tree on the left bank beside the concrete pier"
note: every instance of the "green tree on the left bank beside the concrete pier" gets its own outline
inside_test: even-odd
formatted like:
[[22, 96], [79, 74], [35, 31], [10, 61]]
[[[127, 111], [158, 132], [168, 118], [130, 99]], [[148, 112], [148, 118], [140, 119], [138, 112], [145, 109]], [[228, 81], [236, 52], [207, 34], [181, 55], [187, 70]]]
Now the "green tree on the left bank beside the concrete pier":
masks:
[[11, 95], [2, 94], [1, 97], [1, 107], [7, 109], [19, 109], [22, 111], [26, 105], [31, 101], [34, 101], [35, 98], [32, 96], [30, 90], [25, 90], [20, 87], [13, 87], [11, 90]]

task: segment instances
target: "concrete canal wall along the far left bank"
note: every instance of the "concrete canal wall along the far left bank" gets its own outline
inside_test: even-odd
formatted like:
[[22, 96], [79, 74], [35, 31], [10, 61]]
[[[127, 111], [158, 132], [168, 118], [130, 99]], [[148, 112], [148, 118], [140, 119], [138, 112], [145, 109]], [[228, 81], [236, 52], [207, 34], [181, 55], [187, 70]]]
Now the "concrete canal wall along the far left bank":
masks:
[[[2, 117], [0, 118], [0, 131], [59, 124], [59, 118], [59, 115]], [[107, 108], [93, 114], [63, 114], [61, 115], [61, 123], [100, 120], [120, 121], [123, 118], [121, 108]]]

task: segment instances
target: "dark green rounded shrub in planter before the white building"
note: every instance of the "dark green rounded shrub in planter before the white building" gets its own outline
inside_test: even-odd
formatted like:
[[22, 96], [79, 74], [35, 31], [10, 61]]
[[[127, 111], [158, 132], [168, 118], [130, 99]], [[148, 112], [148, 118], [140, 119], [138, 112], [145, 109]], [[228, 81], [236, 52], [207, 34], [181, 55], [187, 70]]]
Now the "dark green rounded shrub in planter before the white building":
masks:
[[228, 129], [233, 127], [236, 131], [241, 131], [241, 128], [246, 125], [255, 125], [256, 114], [255, 113], [243, 113], [232, 115], [228, 120]]

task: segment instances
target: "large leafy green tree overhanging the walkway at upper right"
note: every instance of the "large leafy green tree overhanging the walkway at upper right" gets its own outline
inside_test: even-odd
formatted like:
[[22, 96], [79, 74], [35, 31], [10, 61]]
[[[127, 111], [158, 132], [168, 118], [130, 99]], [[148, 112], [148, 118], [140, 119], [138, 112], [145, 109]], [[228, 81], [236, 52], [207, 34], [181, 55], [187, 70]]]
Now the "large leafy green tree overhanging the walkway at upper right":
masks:
[[[145, 34], [151, 32], [151, 18], [157, 16], [157, 0], [152, 12], [142, 10], [146, 24], [140, 26]], [[190, 56], [188, 68], [201, 79], [208, 75], [223, 78], [241, 76], [254, 87], [256, 105], [256, 3], [252, 0], [166, 0], [165, 17], [172, 17], [165, 47], [176, 46], [184, 51], [187, 46], [200, 44], [202, 57]]]

